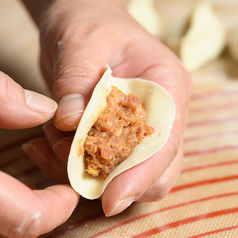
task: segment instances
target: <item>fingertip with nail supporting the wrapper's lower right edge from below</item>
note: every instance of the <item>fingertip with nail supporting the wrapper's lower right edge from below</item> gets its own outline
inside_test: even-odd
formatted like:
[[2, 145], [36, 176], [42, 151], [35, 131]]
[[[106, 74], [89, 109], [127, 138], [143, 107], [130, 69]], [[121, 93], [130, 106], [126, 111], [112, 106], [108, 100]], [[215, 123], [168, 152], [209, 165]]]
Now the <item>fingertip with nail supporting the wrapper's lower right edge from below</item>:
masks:
[[[157, 156], [124, 171], [115, 177], [106, 187], [102, 196], [102, 206], [106, 216], [116, 215], [134, 201], [140, 199], [154, 179], [160, 177], [163, 169], [157, 168]], [[151, 169], [153, 168], [153, 169]], [[148, 171], [150, 173], [148, 174]]]

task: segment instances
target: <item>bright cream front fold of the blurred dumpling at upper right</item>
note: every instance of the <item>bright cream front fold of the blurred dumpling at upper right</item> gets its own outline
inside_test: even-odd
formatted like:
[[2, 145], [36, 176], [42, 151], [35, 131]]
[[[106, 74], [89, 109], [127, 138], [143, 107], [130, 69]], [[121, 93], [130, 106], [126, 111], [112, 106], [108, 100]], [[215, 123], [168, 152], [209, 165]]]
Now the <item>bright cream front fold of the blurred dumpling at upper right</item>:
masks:
[[191, 26], [181, 39], [180, 58], [189, 72], [217, 59], [227, 43], [226, 30], [209, 1], [199, 2]]

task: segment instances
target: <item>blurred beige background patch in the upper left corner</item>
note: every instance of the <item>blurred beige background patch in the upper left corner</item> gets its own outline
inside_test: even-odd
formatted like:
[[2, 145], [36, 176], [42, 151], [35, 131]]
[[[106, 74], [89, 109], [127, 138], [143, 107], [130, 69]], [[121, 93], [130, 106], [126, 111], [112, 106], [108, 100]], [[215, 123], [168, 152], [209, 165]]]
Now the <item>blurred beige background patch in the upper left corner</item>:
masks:
[[39, 32], [21, 1], [0, 1], [0, 35], [0, 70], [24, 88], [48, 93], [38, 67]]

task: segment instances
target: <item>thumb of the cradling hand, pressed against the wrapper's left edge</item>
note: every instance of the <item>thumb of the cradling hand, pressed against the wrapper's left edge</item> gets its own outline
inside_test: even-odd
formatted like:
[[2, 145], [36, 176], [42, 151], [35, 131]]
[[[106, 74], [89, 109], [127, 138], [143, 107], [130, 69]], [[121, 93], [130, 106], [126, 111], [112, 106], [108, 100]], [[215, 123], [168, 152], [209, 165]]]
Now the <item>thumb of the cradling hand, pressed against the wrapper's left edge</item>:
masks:
[[[80, 47], [81, 44], [84, 47]], [[103, 47], [98, 46], [100, 42], [97, 47], [92, 47], [96, 43], [85, 45], [83, 42], [66, 45], [70, 46], [61, 52], [55, 66], [53, 94], [59, 107], [54, 123], [60, 130], [71, 131], [77, 128], [85, 105], [109, 62]]]

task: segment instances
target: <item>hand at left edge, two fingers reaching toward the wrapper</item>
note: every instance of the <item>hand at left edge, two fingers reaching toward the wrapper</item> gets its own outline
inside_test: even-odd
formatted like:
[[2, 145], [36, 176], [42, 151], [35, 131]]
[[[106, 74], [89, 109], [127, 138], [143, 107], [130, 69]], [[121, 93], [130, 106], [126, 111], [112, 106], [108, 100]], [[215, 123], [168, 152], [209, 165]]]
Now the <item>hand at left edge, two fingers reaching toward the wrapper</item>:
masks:
[[[53, 117], [56, 108], [52, 99], [24, 90], [0, 72], [0, 128], [37, 126]], [[70, 216], [77, 201], [77, 194], [69, 186], [31, 190], [0, 171], [0, 237], [37, 237], [46, 233]]]

